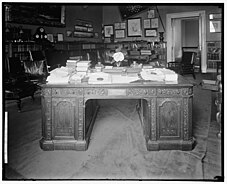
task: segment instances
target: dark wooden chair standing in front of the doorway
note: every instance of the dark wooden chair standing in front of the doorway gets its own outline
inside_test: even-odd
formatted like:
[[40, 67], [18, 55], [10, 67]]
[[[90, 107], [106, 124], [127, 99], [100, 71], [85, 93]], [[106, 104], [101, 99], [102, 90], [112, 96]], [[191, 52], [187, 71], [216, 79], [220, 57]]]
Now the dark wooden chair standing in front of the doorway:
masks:
[[195, 79], [194, 63], [196, 55], [197, 53], [195, 51], [190, 51], [187, 50], [187, 47], [183, 47], [181, 61], [168, 62], [167, 68], [174, 70], [181, 75], [192, 74], [193, 78]]

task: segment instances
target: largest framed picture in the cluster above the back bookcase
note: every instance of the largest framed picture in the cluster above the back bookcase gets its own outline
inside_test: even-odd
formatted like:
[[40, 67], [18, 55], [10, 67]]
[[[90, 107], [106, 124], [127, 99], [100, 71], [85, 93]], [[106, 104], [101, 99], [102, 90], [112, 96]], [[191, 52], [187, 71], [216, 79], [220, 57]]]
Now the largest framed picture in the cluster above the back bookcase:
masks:
[[141, 18], [127, 19], [128, 36], [142, 36]]

